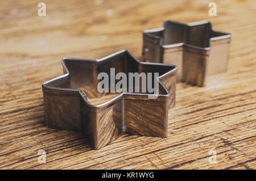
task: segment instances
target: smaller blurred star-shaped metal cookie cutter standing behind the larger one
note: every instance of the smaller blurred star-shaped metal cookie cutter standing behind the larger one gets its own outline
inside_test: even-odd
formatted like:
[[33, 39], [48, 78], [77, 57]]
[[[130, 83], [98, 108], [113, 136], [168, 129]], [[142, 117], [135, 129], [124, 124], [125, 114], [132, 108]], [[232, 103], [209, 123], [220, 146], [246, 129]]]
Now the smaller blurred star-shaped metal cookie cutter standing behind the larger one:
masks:
[[143, 32], [142, 61], [177, 65], [178, 81], [204, 86], [206, 75], [226, 72], [230, 39], [207, 20], [165, 20], [162, 28]]

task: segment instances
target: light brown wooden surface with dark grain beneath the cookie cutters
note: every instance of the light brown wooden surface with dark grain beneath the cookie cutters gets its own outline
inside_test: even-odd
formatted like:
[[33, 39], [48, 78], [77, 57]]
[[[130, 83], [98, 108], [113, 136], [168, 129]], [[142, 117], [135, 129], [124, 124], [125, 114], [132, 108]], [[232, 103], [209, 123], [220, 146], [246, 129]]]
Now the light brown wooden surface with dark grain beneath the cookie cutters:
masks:
[[[207, 0], [43, 2], [46, 16], [37, 1], [1, 1], [0, 169], [256, 169], [255, 1], [217, 1], [217, 16]], [[167, 138], [125, 134], [92, 150], [79, 132], [44, 127], [41, 85], [63, 74], [61, 58], [127, 49], [141, 60], [142, 31], [164, 19], [232, 33], [227, 73], [177, 83]]]

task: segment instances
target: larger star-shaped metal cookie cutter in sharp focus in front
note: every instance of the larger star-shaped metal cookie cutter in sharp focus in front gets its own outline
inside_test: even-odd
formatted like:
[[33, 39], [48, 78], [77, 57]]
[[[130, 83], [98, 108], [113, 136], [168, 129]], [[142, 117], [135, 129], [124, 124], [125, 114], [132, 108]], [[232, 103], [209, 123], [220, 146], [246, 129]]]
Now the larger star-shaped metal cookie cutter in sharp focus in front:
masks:
[[[167, 137], [168, 108], [175, 105], [175, 65], [139, 62], [127, 50], [96, 61], [64, 58], [62, 65], [65, 74], [42, 85], [47, 127], [80, 131], [94, 149], [123, 133]], [[115, 74], [159, 73], [157, 98], [149, 99], [151, 93], [141, 90], [100, 93], [97, 75], [113, 76], [110, 68]]]

